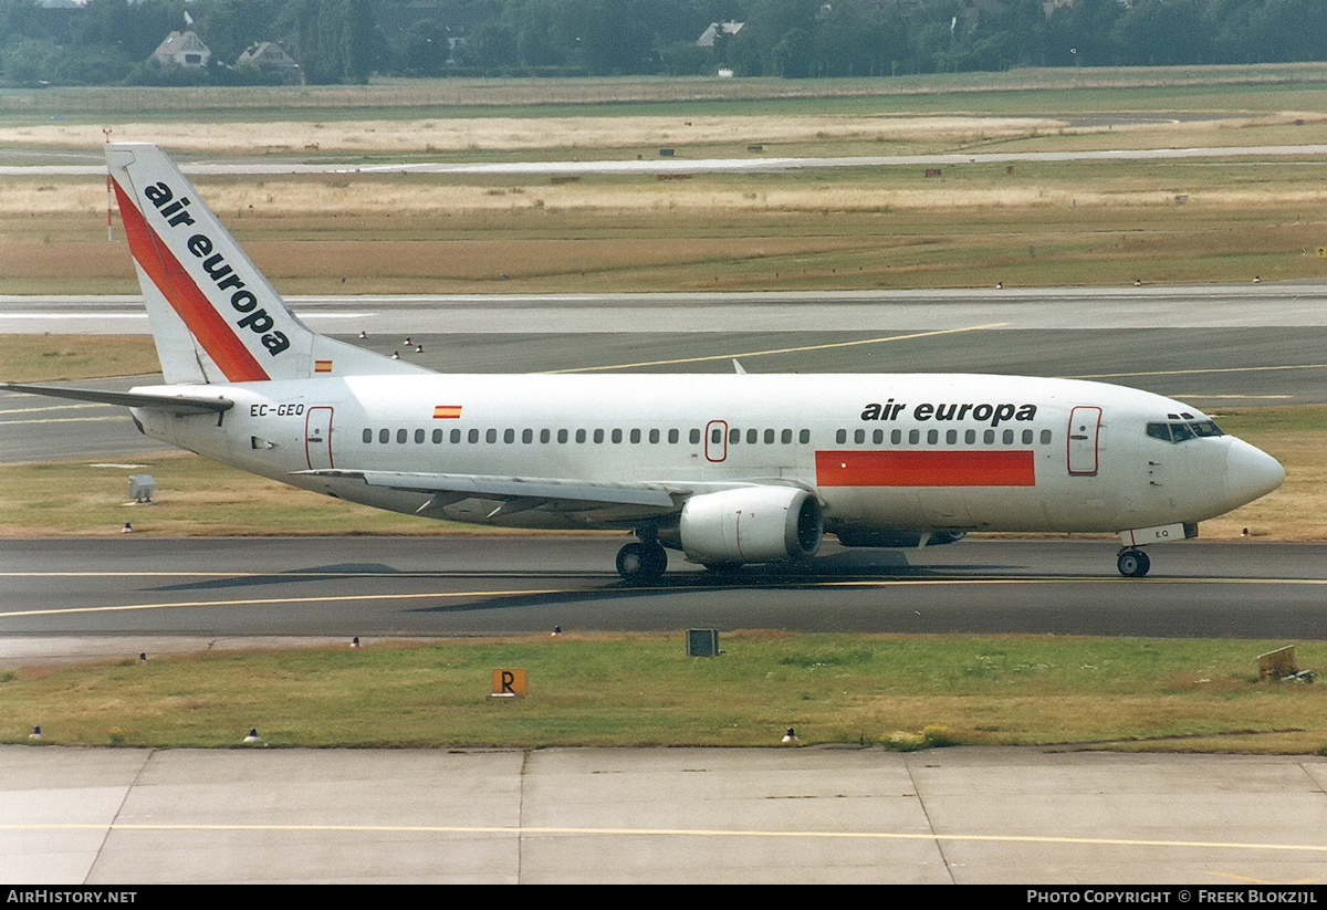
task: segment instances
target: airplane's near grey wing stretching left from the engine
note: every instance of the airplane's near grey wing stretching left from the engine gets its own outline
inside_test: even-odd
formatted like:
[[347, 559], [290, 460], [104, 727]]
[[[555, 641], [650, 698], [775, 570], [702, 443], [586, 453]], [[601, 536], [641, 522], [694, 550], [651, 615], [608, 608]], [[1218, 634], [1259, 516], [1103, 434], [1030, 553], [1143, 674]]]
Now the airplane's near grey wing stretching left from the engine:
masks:
[[596, 521], [630, 521], [669, 515], [679, 511], [686, 499], [695, 493], [751, 486], [742, 483], [605, 483], [556, 478], [348, 468], [321, 468], [300, 471], [299, 474], [318, 478], [353, 478], [364, 480], [370, 487], [429, 493], [431, 499], [419, 507], [419, 512], [445, 508], [464, 499], [482, 499], [500, 503], [487, 517], [545, 508], [553, 512], [594, 513]]

